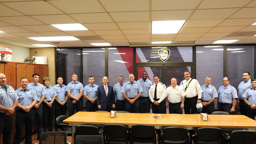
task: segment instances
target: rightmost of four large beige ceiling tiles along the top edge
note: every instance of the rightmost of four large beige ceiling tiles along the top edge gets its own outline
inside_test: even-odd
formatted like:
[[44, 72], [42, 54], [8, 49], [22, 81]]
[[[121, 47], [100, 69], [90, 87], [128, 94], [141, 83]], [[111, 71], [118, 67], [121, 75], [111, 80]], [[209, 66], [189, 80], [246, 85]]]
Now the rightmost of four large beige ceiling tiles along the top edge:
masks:
[[236, 8], [242, 7], [251, 0], [204, 0], [197, 9], [212, 9], [212, 8]]

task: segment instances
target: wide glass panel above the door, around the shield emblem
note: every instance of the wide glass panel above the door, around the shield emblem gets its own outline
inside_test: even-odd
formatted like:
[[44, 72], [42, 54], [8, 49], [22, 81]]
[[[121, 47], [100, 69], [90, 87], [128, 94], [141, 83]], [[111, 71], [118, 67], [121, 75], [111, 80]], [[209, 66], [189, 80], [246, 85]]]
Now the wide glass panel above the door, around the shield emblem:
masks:
[[167, 48], [170, 56], [165, 62], [192, 62], [192, 46], [137, 47], [136, 62], [163, 62], [158, 50]]

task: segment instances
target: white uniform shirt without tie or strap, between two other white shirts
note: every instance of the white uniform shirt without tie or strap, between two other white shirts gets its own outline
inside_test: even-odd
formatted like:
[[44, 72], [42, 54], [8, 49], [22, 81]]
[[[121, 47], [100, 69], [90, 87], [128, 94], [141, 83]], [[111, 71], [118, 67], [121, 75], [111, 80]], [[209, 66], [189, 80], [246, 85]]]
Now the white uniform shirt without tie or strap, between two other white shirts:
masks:
[[186, 93], [183, 91], [183, 89], [179, 86], [176, 85], [175, 88], [172, 86], [168, 87], [166, 89], [167, 97], [169, 102], [171, 103], [178, 103], [181, 101], [181, 97], [184, 97]]

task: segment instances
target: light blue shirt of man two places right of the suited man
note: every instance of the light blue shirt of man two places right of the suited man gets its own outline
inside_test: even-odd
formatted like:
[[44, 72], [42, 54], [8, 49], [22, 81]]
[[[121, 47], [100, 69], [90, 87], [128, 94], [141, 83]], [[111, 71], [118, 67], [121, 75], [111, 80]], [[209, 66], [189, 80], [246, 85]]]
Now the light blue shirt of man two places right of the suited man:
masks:
[[121, 92], [125, 93], [128, 98], [134, 99], [138, 93], [143, 92], [143, 88], [137, 81], [134, 81], [132, 84], [128, 81], [124, 84]]

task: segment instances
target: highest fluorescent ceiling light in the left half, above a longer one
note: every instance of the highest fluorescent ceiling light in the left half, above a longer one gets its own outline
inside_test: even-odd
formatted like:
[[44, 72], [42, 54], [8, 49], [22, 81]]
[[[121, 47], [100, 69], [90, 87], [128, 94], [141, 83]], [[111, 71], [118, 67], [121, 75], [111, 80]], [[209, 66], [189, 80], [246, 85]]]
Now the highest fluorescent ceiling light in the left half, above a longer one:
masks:
[[80, 23], [72, 23], [72, 24], [54, 24], [51, 25], [55, 28], [58, 28], [60, 30], [63, 31], [68, 31], [68, 30], [89, 30], [87, 28], [85, 28], [83, 25], [81, 25]]

